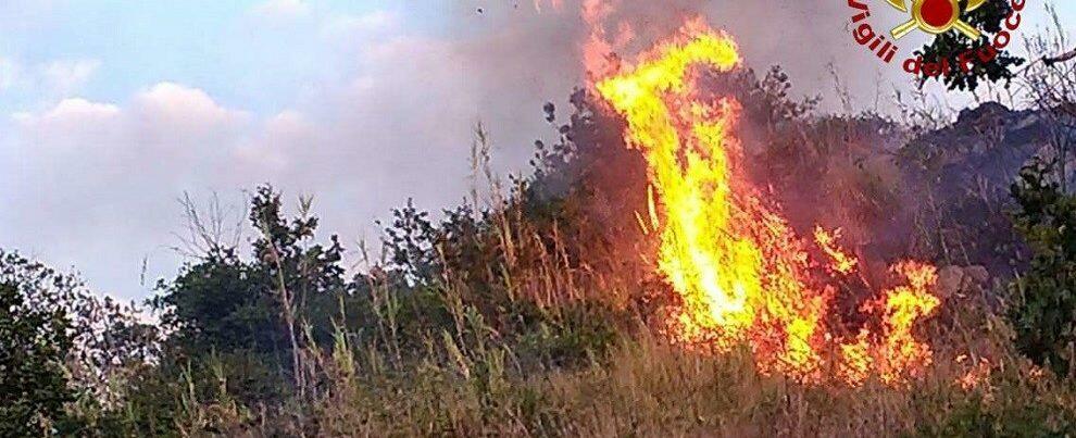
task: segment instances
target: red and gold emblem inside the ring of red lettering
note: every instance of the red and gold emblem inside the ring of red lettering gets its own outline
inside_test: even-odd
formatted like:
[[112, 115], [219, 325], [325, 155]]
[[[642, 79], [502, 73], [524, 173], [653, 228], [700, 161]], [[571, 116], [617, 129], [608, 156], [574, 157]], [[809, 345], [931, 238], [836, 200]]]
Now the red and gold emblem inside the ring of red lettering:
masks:
[[[912, 18], [892, 29], [892, 36], [901, 39], [916, 28], [931, 35], [944, 34], [956, 29], [971, 39], [979, 39], [979, 29], [965, 22], [961, 16], [972, 12], [987, 0], [967, 0], [966, 8], [961, 11], [959, 0], [912, 0]], [[889, 5], [901, 12], [909, 12], [905, 0], [886, 0]]]

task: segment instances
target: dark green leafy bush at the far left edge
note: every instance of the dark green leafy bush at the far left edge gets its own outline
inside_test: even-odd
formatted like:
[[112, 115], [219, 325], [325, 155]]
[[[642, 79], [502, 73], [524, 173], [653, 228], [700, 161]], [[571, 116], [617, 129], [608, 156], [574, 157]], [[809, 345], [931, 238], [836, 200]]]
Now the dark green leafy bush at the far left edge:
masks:
[[125, 378], [157, 353], [157, 330], [135, 308], [95, 296], [73, 274], [0, 250], [0, 410], [30, 415], [33, 435], [46, 430], [41, 422], [53, 431], [83, 427], [79, 406], [117, 402]]

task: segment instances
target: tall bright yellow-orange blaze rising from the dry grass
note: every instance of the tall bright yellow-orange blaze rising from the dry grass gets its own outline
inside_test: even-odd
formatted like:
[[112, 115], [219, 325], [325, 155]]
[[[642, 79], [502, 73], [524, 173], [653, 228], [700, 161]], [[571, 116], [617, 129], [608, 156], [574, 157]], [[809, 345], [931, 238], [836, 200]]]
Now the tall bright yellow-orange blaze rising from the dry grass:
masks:
[[938, 305], [929, 291], [935, 270], [893, 266], [905, 285], [864, 305], [881, 320], [880, 333], [864, 327], [842, 339], [827, 327], [838, 288], [817, 278], [821, 264], [810, 254], [821, 251], [840, 274], [859, 261], [837, 245], [839, 230], [817, 227], [813, 242], [800, 238], [779, 205], [746, 178], [734, 134], [739, 103], [703, 101], [695, 85], [701, 71], [727, 73], [740, 62], [730, 37], [697, 20], [592, 86], [626, 120], [625, 139], [648, 163], [651, 221], [638, 218], [659, 236], [656, 268], [679, 298], [667, 331], [676, 342], [716, 352], [746, 343], [765, 374], [849, 385], [876, 375], [900, 384], [929, 362], [929, 347], [912, 329]]

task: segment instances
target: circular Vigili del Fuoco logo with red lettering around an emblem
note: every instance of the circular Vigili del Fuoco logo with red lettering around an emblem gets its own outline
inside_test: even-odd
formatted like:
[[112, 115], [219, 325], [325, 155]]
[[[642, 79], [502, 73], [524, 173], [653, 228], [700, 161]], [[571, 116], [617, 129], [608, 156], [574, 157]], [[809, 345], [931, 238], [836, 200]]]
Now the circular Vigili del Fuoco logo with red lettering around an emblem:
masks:
[[[922, 55], [913, 53], [912, 57], [904, 60], [902, 66], [905, 72], [919, 77], [942, 75], [949, 77], [958, 72], [971, 74], [976, 65], [993, 62], [998, 54], [1012, 42], [1012, 33], [1019, 27], [1021, 11], [1026, 5], [1026, 0], [967, 0], [963, 8], [961, 0], [873, 0], [885, 2], [893, 9], [911, 15], [906, 22], [889, 32], [889, 36], [892, 37], [892, 41], [890, 41], [884, 33], [875, 30], [871, 8], [867, 5], [868, 1], [872, 0], [848, 0], [848, 5], [853, 11], [850, 27], [852, 39], [885, 64], [891, 63], [901, 52], [897, 41], [916, 29], [935, 37], [955, 32], [967, 37], [971, 41], [967, 42], [966, 47], [958, 47], [954, 51], [937, 60], [924, 60]], [[986, 43], [979, 43], [984, 33], [965, 21], [964, 16], [990, 2], [1009, 3], [1009, 14], [1005, 16], [1001, 29], [990, 36]]]

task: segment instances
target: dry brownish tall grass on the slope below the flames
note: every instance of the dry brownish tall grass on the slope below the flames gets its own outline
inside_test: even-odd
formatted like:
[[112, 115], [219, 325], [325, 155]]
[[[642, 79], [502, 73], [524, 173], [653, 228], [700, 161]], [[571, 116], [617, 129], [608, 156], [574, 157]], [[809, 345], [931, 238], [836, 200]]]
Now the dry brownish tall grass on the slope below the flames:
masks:
[[[922, 378], [801, 385], [651, 328], [667, 293], [645, 258], [567, 240], [511, 201], [467, 236], [480, 265], [401, 293], [371, 276], [372, 318], [338, 318], [297, 353], [311, 388], [240, 405], [220, 367], [212, 400], [177, 399], [184, 436], [1072, 436], [1076, 388], [1013, 352], [989, 291], [947, 300], [925, 328]], [[645, 253], [645, 248], [639, 248]], [[634, 260], [625, 263], [624, 260]], [[998, 285], [997, 287], [1001, 287]], [[281, 286], [283, 288], [283, 286]], [[342, 311], [341, 311], [342, 312]], [[439, 323], [438, 323], [439, 322]], [[303, 335], [302, 333], [300, 335]]]

